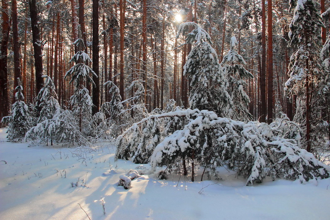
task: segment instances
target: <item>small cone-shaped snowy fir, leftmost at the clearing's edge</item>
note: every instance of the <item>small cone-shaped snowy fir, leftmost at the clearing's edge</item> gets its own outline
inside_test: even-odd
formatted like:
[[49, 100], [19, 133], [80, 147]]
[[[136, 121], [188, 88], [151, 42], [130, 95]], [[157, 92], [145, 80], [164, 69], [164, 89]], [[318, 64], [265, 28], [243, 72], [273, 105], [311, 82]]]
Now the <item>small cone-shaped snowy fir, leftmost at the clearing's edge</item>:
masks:
[[28, 106], [24, 102], [23, 86], [17, 78], [18, 86], [15, 88], [16, 102], [12, 106], [12, 115], [3, 117], [1, 123], [8, 124], [8, 141], [21, 141], [31, 127], [31, 117]]

